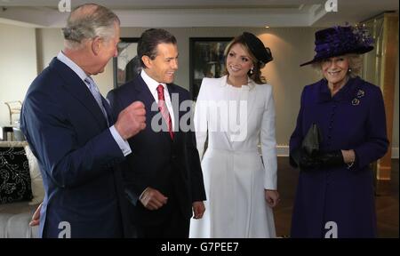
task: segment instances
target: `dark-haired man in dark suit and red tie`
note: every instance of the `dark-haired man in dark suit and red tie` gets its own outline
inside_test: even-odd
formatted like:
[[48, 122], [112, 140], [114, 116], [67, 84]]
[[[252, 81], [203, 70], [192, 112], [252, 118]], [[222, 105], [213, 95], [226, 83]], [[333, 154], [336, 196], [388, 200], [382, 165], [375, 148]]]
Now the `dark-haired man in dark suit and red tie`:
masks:
[[205, 192], [193, 130], [180, 124], [190, 115], [179, 109], [189, 93], [172, 84], [178, 69], [175, 37], [164, 29], [146, 30], [138, 57], [140, 74], [108, 92], [115, 115], [135, 100], [147, 109], [147, 128], [128, 140], [137, 150], [122, 164], [133, 228], [139, 237], [188, 237], [192, 214], [203, 217]]

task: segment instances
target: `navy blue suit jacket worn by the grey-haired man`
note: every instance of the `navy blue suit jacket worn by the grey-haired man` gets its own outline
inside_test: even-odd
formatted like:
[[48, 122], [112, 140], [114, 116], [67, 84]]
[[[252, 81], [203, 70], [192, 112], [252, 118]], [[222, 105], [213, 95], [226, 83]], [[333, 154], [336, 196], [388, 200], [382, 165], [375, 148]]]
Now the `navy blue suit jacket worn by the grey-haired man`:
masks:
[[124, 155], [79, 76], [54, 58], [30, 85], [20, 121], [44, 180], [40, 235], [58, 237], [68, 221], [72, 237], [123, 236], [121, 175], [113, 166]]

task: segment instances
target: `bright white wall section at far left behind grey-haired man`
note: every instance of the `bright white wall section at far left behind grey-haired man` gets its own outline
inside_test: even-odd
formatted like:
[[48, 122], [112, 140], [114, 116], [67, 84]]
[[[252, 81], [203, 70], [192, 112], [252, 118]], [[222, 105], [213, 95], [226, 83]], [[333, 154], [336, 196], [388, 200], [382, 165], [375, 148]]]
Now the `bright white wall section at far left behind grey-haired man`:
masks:
[[0, 36], [0, 125], [5, 125], [10, 118], [3, 102], [22, 101], [36, 77], [36, 39], [34, 28], [5, 24], [0, 24]]

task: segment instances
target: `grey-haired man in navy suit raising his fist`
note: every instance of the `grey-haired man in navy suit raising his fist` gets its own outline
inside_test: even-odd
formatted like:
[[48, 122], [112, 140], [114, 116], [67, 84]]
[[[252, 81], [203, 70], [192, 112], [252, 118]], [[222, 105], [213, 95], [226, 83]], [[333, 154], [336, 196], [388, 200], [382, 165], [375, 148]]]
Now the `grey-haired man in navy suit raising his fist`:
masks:
[[20, 118], [44, 180], [40, 236], [122, 237], [126, 199], [113, 165], [131, 153], [145, 109], [134, 102], [115, 122], [91, 77], [117, 54], [119, 19], [84, 4], [62, 30], [65, 48], [30, 85]]

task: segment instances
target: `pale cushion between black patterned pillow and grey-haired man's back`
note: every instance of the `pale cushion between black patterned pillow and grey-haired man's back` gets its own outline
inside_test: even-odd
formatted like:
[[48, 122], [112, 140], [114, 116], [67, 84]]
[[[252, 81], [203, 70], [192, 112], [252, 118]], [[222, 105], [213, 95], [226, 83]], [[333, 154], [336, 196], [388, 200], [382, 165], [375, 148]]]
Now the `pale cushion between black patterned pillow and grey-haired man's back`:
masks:
[[42, 173], [40, 173], [39, 164], [37, 164], [36, 156], [33, 155], [28, 145], [25, 146], [25, 152], [28, 157], [29, 172], [32, 185], [32, 195], [33, 195], [32, 201], [29, 204], [31, 205], [40, 204], [43, 202], [44, 199]]

